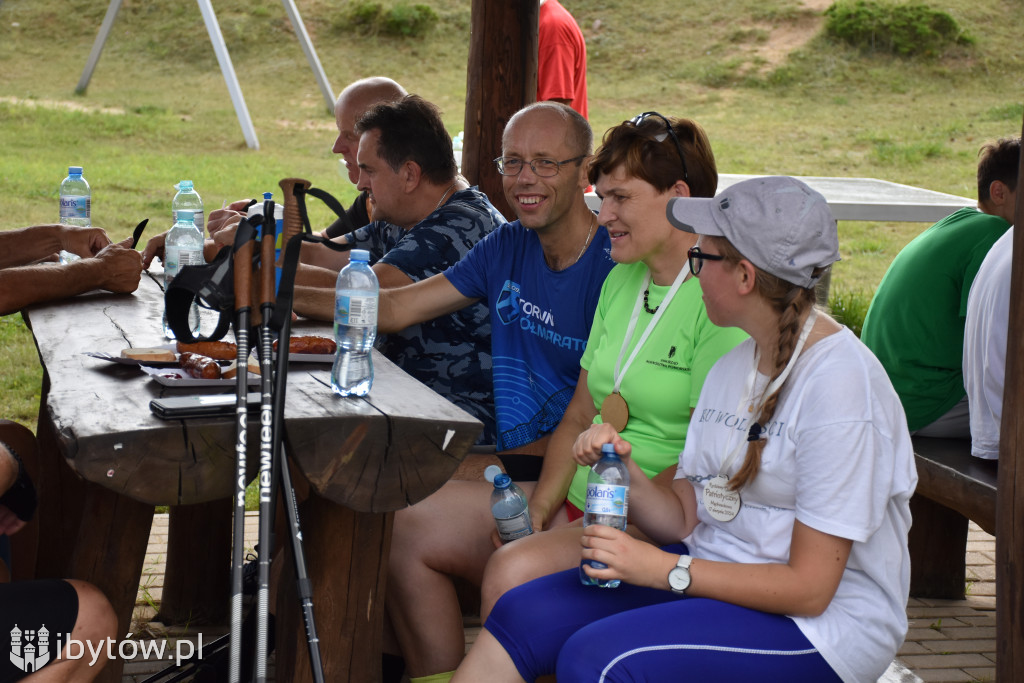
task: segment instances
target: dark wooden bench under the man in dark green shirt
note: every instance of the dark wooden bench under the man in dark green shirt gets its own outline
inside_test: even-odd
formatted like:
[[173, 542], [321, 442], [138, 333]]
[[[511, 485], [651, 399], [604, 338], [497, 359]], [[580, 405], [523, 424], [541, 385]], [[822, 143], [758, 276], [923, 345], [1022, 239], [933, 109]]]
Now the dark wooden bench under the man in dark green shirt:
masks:
[[971, 439], [913, 437], [918, 489], [910, 500], [910, 595], [963, 599], [968, 521], [995, 533], [997, 461]]

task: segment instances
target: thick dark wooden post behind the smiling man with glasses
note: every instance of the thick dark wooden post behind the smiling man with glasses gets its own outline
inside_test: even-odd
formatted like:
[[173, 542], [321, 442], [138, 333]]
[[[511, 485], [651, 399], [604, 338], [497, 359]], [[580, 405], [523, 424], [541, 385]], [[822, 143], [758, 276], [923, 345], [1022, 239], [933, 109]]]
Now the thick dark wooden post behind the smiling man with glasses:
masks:
[[492, 163], [513, 114], [537, 99], [538, 2], [473, 0], [462, 173], [514, 219]]

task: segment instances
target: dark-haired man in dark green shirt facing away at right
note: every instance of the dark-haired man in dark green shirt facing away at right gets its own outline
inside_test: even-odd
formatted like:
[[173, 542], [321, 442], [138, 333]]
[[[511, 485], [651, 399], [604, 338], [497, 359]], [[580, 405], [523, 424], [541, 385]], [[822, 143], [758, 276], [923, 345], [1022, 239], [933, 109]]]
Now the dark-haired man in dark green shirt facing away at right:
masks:
[[965, 208], [914, 238], [874, 293], [861, 340], [879, 357], [911, 433], [970, 437], [962, 370], [971, 284], [1016, 205], [1020, 138], [981, 148], [978, 208]]

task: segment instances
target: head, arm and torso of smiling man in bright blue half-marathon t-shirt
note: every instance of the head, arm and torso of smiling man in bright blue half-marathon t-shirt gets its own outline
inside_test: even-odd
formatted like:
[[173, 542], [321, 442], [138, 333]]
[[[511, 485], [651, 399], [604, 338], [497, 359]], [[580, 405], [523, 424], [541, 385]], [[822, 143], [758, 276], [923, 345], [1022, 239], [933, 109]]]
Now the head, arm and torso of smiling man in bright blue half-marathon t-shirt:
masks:
[[[585, 139], [577, 130], [586, 130]], [[506, 155], [513, 142], [523, 152], [502, 157], [500, 170], [518, 220], [497, 228], [443, 273], [382, 293], [378, 329], [394, 332], [485, 303], [497, 450], [543, 455], [575, 390], [601, 284], [613, 263], [608, 234], [584, 201], [583, 162], [592, 144], [586, 120], [567, 106], [541, 102], [509, 122]]]

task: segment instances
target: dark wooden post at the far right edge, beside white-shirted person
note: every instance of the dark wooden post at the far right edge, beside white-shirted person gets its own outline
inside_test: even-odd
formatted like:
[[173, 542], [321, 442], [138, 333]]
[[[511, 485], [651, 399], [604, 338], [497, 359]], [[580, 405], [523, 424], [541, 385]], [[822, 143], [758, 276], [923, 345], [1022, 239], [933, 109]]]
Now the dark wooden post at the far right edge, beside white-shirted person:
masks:
[[[1014, 225], [1024, 223], [1024, 155], [1017, 176]], [[1024, 679], [1024, 234], [1014, 231], [1007, 330], [1007, 374], [999, 430], [999, 487], [995, 520], [995, 673], [999, 681]]]

